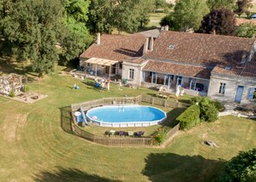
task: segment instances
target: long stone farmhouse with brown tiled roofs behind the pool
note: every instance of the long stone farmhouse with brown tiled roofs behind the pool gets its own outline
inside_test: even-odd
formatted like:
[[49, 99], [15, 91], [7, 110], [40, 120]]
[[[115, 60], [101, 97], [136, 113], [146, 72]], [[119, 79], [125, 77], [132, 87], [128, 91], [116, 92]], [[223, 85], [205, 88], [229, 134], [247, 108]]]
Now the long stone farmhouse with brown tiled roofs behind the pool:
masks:
[[180, 85], [185, 94], [238, 103], [256, 96], [255, 39], [165, 30], [154, 37], [147, 33], [116, 36], [103, 35], [100, 50], [99, 45], [91, 45], [80, 60], [115, 60], [122, 65], [116, 74], [143, 87], [163, 86], [175, 92]]

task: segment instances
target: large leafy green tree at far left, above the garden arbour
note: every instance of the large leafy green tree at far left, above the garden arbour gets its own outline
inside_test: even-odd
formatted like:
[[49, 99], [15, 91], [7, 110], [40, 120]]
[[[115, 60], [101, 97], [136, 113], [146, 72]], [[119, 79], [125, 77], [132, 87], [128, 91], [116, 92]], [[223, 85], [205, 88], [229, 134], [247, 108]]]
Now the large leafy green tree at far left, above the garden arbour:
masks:
[[53, 71], [59, 59], [55, 44], [62, 28], [63, 4], [59, 0], [17, 0], [11, 6], [3, 32], [16, 59], [30, 60], [40, 76]]

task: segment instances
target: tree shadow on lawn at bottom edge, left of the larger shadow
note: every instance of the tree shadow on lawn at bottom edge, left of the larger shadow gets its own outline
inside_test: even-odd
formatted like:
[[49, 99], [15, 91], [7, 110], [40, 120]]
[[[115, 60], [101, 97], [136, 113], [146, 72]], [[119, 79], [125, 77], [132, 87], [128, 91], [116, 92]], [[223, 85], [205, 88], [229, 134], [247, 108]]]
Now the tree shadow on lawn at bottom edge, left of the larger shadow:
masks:
[[57, 167], [56, 171], [41, 171], [40, 173], [34, 174], [34, 181], [45, 182], [45, 181], [120, 181], [116, 179], [107, 179], [100, 177], [96, 174], [89, 174], [83, 172], [77, 168], [64, 168]]

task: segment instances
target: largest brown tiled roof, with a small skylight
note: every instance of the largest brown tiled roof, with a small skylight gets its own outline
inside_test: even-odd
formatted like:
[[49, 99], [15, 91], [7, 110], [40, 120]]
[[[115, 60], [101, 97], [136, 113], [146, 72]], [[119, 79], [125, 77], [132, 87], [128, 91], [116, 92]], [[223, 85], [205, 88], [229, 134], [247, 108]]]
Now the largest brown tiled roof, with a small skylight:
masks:
[[[251, 51], [255, 39], [204, 33], [163, 31], [147, 58], [163, 58], [188, 64], [238, 64]], [[169, 45], [175, 45], [173, 49]]]

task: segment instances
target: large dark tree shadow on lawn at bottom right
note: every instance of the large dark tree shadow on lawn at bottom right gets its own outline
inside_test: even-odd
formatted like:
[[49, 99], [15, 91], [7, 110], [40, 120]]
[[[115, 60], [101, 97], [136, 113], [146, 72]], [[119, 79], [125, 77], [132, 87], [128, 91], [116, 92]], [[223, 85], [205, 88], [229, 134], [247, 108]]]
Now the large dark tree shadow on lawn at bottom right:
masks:
[[200, 155], [150, 154], [142, 174], [150, 181], [214, 181], [227, 161], [209, 160]]

